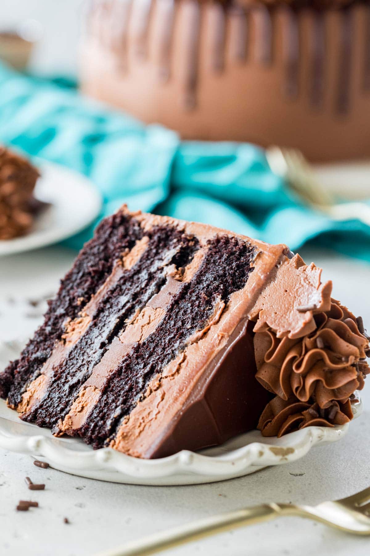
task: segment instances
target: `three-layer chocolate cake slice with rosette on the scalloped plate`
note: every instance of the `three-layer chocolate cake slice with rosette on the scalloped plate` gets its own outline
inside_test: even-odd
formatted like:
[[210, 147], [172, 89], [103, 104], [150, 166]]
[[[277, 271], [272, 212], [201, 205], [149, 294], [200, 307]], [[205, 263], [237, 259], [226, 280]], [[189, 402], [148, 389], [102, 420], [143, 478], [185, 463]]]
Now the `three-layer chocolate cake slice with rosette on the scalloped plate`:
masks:
[[126, 207], [0, 374], [25, 421], [141, 458], [352, 418], [362, 322], [285, 245]]

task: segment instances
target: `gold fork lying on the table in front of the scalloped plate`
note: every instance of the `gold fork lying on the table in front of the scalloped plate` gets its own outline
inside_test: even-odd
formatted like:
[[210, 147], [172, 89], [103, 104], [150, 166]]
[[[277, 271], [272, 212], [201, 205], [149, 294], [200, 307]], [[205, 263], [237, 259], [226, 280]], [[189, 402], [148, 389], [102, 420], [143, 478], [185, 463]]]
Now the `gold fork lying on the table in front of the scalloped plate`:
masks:
[[215, 533], [265, 522], [283, 515], [313, 519], [355, 535], [370, 535], [370, 487], [336, 502], [322, 502], [317, 506], [272, 502], [214, 515], [195, 523], [156, 533], [146, 539], [136, 540], [120, 548], [100, 553], [99, 556], [148, 556]]

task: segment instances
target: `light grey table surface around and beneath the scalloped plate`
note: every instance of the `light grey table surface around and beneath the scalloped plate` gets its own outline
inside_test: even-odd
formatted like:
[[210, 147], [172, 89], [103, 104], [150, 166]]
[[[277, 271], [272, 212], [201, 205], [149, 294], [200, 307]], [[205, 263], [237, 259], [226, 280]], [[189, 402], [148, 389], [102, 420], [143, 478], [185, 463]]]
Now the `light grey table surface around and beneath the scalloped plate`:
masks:
[[[74, 253], [62, 247], [0, 259], [0, 338], [27, 335], [39, 321], [25, 299], [57, 288]], [[324, 266], [334, 282], [333, 295], [370, 322], [370, 266], [330, 253], [303, 251], [307, 262]], [[9, 297], [12, 298], [9, 304]], [[337, 444], [310, 451], [292, 464], [265, 469], [240, 479], [195, 486], [134, 486], [104, 483], [38, 469], [29, 456], [0, 450], [0, 554], [90, 556], [126, 540], [244, 505], [281, 501], [316, 504], [370, 485], [370, 384], [365, 410]], [[24, 477], [46, 484], [35, 492], [40, 507], [16, 512], [29, 499]], [[70, 524], [64, 524], [67, 517]], [[192, 543], [167, 554], [266, 556], [336, 554], [367, 556], [369, 538], [336, 533], [322, 525], [285, 518]]]

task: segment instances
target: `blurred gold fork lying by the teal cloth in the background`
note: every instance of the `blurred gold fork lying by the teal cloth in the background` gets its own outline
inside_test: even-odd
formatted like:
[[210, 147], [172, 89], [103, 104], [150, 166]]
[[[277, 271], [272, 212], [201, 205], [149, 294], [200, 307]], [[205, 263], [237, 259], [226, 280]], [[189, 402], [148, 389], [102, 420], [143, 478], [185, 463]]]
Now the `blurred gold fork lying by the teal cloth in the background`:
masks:
[[[313, 209], [324, 212], [332, 220], [361, 220], [370, 226], [370, 206], [361, 201], [337, 202], [317, 180], [301, 151], [273, 146], [266, 149], [266, 158], [271, 170], [283, 177], [291, 189]], [[350, 183], [348, 189], [351, 189]]]

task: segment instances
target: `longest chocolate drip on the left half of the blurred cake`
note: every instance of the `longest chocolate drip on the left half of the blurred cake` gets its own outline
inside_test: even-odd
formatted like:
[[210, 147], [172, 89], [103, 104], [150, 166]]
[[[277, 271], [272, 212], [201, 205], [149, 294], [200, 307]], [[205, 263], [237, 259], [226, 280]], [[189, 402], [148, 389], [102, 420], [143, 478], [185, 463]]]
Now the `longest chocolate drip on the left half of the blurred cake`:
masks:
[[200, 6], [197, 0], [188, 0], [181, 6], [183, 10], [183, 93], [181, 102], [186, 110], [196, 105], [196, 85], [198, 73], [198, 49], [200, 29]]

